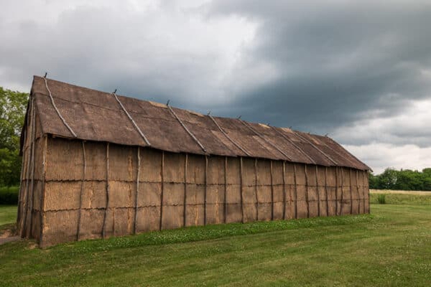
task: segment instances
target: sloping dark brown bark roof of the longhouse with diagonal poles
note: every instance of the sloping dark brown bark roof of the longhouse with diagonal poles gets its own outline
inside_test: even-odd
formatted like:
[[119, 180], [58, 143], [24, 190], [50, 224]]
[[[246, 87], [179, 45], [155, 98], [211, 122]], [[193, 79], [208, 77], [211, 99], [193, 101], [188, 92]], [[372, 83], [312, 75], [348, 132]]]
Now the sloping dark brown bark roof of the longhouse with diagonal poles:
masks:
[[53, 136], [370, 170], [327, 136], [202, 115], [39, 76], [34, 76], [31, 95], [42, 133]]

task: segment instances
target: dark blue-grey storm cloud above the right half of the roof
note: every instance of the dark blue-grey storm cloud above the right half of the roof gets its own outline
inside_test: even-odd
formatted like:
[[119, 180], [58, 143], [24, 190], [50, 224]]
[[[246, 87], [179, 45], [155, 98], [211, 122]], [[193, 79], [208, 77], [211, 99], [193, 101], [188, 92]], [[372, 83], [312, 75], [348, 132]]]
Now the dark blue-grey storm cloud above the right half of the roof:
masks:
[[247, 120], [321, 133], [370, 110], [392, 116], [412, 99], [429, 98], [422, 70], [431, 63], [431, 6], [410, 4], [214, 1], [208, 17], [261, 23], [247, 53], [279, 71], [232, 106], [245, 104]]

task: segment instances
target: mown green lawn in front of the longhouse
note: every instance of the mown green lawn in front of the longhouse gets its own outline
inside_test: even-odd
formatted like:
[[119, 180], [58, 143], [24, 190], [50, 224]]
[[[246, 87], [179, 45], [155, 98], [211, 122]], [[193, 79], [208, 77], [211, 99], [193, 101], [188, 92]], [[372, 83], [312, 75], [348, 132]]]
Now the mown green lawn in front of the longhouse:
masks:
[[7, 243], [1, 286], [430, 286], [431, 204], [410, 199], [371, 215]]

